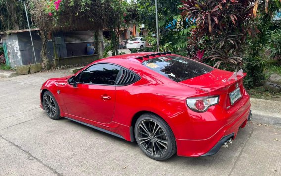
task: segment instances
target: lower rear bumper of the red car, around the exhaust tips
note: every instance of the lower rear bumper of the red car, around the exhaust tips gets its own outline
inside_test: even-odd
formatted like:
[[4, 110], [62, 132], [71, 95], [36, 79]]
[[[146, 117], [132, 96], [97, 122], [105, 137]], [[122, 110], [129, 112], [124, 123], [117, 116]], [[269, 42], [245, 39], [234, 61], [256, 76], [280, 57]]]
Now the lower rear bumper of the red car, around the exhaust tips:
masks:
[[[251, 115], [250, 103], [245, 110], [231, 123], [223, 126], [206, 139], [176, 139], [177, 155], [199, 157], [213, 155], [219, 151], [224, 141], [236, 138], [238, 130], [245, 127]], [[245, 105], [246, 106], [246, 105]], [[207, 125], [207, 124], [206, 124]]]

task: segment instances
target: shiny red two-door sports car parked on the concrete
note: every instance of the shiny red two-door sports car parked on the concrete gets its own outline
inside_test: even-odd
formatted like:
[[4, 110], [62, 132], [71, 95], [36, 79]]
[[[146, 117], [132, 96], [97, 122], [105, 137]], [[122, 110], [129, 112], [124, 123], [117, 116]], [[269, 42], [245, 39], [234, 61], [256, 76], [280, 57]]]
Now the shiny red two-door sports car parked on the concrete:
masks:
[[137, 141], [155, 160], [208, 156], [251, 118], [244, 76], [170, 52], [125, 54], [47, 80], [40, 106], [51, 119]]

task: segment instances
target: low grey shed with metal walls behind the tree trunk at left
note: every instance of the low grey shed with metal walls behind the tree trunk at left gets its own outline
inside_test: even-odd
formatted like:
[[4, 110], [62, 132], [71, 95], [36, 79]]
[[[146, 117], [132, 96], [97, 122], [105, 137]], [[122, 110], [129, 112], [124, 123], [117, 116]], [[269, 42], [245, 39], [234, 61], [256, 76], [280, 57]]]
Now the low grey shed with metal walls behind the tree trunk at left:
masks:
[[[42, 39], [38, 28], [31, 29], [34, 51], [32, 50], [29, 30], [0, 32], [6, 46], [5, 58], [11, 67], [41, 63]], [[74, 65], [92, 62], [99, 58], [94, 49], [94, 31], [58, 31], [49, 32], [47, 40], [47, 58], [53, 65]]]

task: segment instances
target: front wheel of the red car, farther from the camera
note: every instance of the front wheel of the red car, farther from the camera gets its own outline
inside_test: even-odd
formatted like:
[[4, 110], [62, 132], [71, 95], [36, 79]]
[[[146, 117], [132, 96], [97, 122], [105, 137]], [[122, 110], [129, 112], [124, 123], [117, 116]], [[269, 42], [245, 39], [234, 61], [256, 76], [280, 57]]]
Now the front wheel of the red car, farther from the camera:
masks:
[[44, 92], [42, 101], [43, 107], [49, 118], [53, 120], [58, 120], [61, 118], [59, 106], [54, 96], [49, 91]]

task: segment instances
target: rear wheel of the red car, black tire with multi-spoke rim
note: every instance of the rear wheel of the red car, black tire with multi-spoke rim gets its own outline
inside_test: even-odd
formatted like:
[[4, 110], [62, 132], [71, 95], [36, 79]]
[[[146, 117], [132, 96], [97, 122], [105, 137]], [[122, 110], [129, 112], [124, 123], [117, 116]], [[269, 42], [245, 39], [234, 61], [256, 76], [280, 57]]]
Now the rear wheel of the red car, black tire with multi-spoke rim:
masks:
[[141, 115], [134, 132], [139, 147], [148, 157], [163, 161], [176, 153], [175, 136], [161, 117], [152, 113]]

